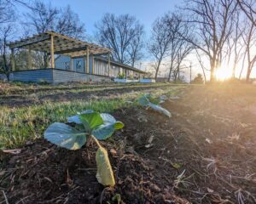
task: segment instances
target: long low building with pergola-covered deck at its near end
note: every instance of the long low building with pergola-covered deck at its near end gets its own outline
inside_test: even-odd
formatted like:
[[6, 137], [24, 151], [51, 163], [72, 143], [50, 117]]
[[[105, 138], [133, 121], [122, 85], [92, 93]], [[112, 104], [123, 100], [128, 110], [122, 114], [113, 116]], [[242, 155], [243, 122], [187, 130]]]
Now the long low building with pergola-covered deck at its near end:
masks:
[[[54, 31], [9, 43], [10, 79], [21, 82], [110, 82], [116, 77], [140, 78], [146, 72], [110, 59], [111, 50], [80, 41]], [[15, 65], [15, 49], [27, 50], [26, 69]], [[32, 63], [32, 51], [44, 52], [46, 65], [38, 69]]]

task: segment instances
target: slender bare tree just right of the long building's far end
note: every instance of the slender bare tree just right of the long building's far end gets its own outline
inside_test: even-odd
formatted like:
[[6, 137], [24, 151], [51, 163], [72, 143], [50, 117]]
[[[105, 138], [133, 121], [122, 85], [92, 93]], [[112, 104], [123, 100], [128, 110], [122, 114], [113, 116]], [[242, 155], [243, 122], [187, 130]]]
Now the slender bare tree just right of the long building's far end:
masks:
[[172, 35], [166, 23], [166, 16], [154, 21], [151, 37], [148, 44], [148, 51], [154, 56], [154, 79], [158, 77], [162, 60], [166, 58], [170, 50]]

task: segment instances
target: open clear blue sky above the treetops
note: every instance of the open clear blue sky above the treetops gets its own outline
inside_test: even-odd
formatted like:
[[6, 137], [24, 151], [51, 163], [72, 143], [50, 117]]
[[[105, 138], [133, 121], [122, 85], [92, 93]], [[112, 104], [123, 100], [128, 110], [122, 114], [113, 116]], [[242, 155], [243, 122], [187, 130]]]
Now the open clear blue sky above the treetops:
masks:
[[181, 0], [53, 0], [56, 7], [70, 5], [80, 20], [85, 24], [86, 31], [93, 35], [95, 23], [101, 20], [102, 15], [131, 14], [136, 16], [145, 27], [147, 36], [154, 20], [169, 10], [175, 10], [175, 5]]

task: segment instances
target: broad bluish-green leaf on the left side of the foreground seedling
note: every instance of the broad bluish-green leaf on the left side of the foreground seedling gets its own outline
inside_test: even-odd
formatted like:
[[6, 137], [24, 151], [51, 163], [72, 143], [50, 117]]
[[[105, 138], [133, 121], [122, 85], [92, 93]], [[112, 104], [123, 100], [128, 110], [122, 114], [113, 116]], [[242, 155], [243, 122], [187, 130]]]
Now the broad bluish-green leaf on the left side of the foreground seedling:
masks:
[[45, 130], [44, 139], [68, 150], [79, 150], [86, 142], [86, 135], [64, 123], [55, 122]]

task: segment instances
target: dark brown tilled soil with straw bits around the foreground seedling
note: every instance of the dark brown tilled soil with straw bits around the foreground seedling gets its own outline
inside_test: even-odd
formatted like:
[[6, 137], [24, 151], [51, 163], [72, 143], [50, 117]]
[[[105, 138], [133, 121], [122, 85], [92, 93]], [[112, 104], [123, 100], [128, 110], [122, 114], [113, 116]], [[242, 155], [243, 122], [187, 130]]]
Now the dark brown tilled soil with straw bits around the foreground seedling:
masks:
[[122, 203], [256, 203], [255, 101], [251, 88], [194, 87], [166, 101], [170, 119], [116, 111], [125, 128], [102, 142], [113, 189], [96, 181], [94, 145], [71, 151], [43, 139], [5, 158], [0, 189], [9, 203], [117, 203], [117, 194]]

